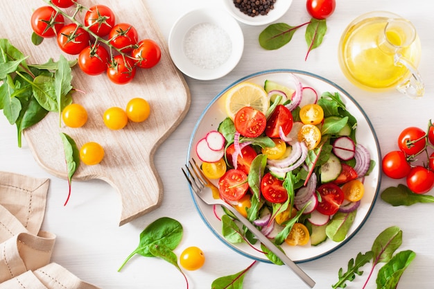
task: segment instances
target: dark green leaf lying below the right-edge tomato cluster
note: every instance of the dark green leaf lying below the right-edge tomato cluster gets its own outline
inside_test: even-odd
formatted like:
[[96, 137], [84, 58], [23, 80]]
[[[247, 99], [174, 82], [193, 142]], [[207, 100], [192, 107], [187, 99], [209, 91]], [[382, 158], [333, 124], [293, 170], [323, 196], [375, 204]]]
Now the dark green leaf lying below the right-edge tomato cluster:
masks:
[[411, 206], [419, 202], [428, 203], [434, 202], [432, 195], [419, 195], [413, 193], [408, 186], [399, 184], [397, 187], [390, 186], [381, 193], [383, 201], [392, 204], [392, 206]]

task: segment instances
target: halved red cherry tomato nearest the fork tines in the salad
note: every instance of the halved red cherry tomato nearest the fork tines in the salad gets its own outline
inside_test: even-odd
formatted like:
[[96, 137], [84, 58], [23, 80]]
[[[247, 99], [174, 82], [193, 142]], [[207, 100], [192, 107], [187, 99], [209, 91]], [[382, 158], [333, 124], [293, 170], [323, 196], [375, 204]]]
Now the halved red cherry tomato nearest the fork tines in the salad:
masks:
[[220, 198], [228, 202], [233, 202], [243, 198], [249, 189], [247, 175], [243, 170], [234, 168], [227, 170], [223, 177], [218, 181], [218, 191]]

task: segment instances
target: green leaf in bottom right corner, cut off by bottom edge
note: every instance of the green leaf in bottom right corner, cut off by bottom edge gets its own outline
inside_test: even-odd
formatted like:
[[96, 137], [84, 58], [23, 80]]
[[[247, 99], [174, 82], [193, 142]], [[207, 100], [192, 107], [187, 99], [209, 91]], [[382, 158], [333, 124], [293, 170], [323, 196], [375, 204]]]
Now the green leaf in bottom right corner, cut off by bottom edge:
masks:
[[385, 264], [377, 274], [376, 286], [380, 289], [397, 288], [398, 281], [401, 278], [404, 270], [415, 259], [415, 252], [406, 250], [398, 252], [390, 261]]

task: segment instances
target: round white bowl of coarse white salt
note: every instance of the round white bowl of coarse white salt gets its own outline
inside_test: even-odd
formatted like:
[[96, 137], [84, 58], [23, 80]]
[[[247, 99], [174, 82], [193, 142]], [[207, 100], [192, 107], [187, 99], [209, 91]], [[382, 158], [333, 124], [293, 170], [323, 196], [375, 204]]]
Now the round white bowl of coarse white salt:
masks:
[[225, 76], [243, 55], [244, 36], [238, 22], [224, 10], [200, 8], [173, 25], [168, 50], [182, 73], [198, 80]]

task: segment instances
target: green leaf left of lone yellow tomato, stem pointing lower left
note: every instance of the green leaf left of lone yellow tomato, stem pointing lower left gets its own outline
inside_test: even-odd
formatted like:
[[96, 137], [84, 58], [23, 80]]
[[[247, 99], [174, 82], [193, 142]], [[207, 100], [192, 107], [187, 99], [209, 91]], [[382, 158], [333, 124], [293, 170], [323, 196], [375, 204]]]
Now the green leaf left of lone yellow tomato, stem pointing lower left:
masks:
[[150, 246], [164, 245], [168, 249], [175, 249], [182, 239], [182, 234], [182, 225], [177, 220], [168, 217], [155, 220], [141, 232], [139, 245], [125, 259], [118, 272], [135, 254], [145, 257], [154, 256], [150, 252]]

